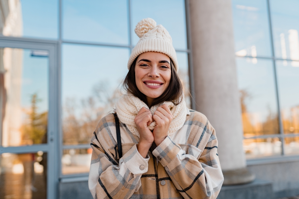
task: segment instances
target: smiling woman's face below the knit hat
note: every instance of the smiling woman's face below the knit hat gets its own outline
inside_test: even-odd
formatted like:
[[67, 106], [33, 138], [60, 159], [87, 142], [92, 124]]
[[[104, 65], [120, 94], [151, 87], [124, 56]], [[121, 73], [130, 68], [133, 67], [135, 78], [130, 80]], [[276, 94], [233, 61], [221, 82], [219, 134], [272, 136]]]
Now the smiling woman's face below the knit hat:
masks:
[[167, 89], [171, 79], [170, 58], [158, 52], [146, 52], [138, 56], [135, 65], [136, 85], [147, 96], [150, 105]]

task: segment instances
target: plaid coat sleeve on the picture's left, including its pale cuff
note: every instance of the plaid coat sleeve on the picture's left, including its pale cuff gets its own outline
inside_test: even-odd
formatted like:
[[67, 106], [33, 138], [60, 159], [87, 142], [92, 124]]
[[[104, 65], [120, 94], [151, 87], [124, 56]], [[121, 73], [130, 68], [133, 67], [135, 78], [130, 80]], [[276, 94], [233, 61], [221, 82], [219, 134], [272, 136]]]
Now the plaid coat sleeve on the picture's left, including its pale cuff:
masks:
[[[143, 158], [136, 144], [117, 162], [103, 147], [109, 135], [94, 133], [91, 139], [93, 149], [89, 171], [88, 186], [94, 199], [130, 198], [141, 186], [141, 175], [148, 170], [148, 158]], [[98, 135], [98, 136], [97, 136]], [[101, 137], [101, 144], [97, 137]]]

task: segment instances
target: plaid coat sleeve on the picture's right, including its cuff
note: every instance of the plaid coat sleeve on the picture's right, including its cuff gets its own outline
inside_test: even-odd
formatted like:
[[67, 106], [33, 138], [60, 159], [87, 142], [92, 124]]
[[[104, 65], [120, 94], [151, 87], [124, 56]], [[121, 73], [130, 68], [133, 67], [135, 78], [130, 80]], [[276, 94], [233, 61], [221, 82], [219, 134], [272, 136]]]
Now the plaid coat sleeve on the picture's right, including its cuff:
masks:
[[[203, 151], [190, 145], [186, 154], [167, 136], [152, 152], [185, 199], [199, 197], [214, 199], [219, 194], [223, 174], [217, 154], [218, 141], [215, 130], [212, 129], [212, 132], [203, 146]], [[203, 132], [199, 132], [200, 134], [203, 135]]]

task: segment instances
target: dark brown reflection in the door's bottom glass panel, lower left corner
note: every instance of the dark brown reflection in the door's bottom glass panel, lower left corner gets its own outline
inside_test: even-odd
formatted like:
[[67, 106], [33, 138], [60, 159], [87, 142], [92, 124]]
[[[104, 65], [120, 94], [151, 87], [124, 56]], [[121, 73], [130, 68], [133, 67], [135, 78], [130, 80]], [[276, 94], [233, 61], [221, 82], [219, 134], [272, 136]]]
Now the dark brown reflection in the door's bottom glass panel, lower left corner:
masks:
[[46, 198], [47, 154], [0, 155], [0, 198]]

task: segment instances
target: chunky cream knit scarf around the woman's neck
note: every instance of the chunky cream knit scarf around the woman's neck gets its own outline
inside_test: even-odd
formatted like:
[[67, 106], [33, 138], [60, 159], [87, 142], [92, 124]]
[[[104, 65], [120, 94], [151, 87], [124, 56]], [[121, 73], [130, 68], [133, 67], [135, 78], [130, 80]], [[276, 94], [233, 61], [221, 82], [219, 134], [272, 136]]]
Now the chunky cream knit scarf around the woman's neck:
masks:
[[[164, 101], [161, 104], [156, 104], [155, 106], [152, 106], [150, 108], [152, 115], [157, 110], [157, 108], [163, 104], [168, 105], [173, 115], [173, 119], [168, 129], [168, 135], [171, 135], [173, 132], [176, 132], [184, 125], [184, 122], [186, 120], [186, 115], [187, 115], [186, 102], [185, 99], [183, 98], [181, 103], [178, 104], [177, 106], [175, 106], [170, 101]], [[149, 107], [143, 101], [141, 101], [139, 98], [131, 94], [126, 94], [121, 96], [118, 102], [116, 103], [116, 113], [120, 122], [126, 124], [128, 129], [138, 137], [139, 137], [139, 132], [136, 128], [134, 119], [142, 107], [146, 107], [147, 109], [149, 109]], [[147, 127], [149, 128], [149, 130], [153, 130], [155, 126], [156, 126], [156, 122], [154, 121]]]

